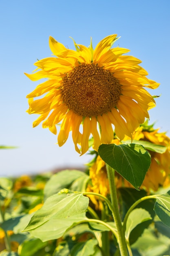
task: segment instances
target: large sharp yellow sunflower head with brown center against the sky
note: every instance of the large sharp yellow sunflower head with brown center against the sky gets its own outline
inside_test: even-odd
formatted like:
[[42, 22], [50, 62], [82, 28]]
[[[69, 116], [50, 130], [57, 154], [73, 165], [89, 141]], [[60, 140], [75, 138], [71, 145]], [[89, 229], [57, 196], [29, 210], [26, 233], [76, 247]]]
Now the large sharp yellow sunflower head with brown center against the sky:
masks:
[[[112, 124], [119, 139], [125, 135], [131, 137], [145, 117], [149, 117], [148, 109], [155, 106], [144, 87], [155, 89], [159, 84], [146, 78], [148, 73], [138, 65], [139, 59], [122, 55], [128, 49], [111, 48], [117, 39], [115, 34], [107, 36], [94, 50], [92, 42], [86, 47], [73, 40], [76, 50], [72, 50], [50, 36], [49, 46], [56, 57], [37, 61], [36, 72], [26, 74], [32, 81], [47, 79], [27, 95], [27, 112], [40, 115], [33, 127], [43, 121], [43, 128], [57, 134], [56, 125], [61, 124], [59, 146], [72, 131], [78, 153], [88, 150], [91, 135], [93, 148], [98, 150], [100, 144], [112, 141]], [[43, 94], [41, 99], [33, 99]]]

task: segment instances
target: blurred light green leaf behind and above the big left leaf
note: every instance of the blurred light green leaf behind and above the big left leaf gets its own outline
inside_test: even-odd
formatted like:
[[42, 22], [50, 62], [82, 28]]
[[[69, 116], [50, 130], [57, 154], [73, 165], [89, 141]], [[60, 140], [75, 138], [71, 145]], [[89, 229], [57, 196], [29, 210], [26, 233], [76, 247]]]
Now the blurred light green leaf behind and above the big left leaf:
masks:
[[[75, 182], [79, 179], [89, 178], [86, 173], [77, 170], [65, 170], [54, 174], [44, 188], [44, 200], [49, 196], [58, 193], [61, 189], [71, 189], [71, 185], [74, 183], [74, 190], [79, 191], [78, 188], [75, 189]], [[80, 189], [80, 188], [79, 188]]]

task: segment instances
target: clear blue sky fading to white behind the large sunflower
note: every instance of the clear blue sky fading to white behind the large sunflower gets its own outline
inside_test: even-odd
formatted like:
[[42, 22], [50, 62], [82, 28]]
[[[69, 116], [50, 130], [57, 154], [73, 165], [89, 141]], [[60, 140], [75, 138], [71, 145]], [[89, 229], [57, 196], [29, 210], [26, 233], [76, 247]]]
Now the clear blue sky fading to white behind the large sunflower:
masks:
[[[1, 0], [0, 1], [0, 144], [18, 146], [0, 151], [0, 176], [82, 166], [89, 155], [79, 156], [70, 139], [61, 148], [57, 137], [28, 115], [26, 94], [38, 82], [31, 73], [37, 59], [51, 56], [49, 36], [74, 49], [76, 43], [93, 47], [105, 36], [118, 34], [115, 43], [141, 59], [148, 78], [161, 85], [153, 94], [157, 106], [150, 113], [155, 127], [170, 136], [170, 0]], [[70, 134], [71, 135], [71, 134]]]

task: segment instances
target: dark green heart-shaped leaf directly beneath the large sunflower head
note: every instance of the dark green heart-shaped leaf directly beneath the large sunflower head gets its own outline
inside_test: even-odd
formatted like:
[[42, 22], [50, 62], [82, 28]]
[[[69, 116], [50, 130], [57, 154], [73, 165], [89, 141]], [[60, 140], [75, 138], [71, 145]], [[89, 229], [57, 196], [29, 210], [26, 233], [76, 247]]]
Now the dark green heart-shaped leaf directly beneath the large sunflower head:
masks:
[[98, 153], [106, 164], [139, 190], [151, 162], [150, 154], [143, 146], [102, 144]]

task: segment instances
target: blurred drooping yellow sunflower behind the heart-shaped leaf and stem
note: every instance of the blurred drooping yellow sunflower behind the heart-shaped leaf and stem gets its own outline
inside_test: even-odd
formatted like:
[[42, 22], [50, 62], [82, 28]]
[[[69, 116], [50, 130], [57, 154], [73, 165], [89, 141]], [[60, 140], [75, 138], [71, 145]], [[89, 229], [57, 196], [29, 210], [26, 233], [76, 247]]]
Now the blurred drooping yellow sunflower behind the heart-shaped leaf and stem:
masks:
[[[141, 125], [133, 133], [132, 137], [135, 140], [150, 141], [153, 144], [167, 147], [166, 152], [162, 154], [149, 151], [151, 154], [151, 165], [140, 188], [145, 189], [149, 194], [152, 191], [157, 191], [160, 186], [170, 186], [170, 138], [165, 132], [159, 132], [159, 129], [155, 130], [153, 125], [148, 126], [147, 122]], [[124, 140], [128, 139], [130, 139], [128, 136], [124, 138]], [[121, 142], [118, 139], [114, 139], [112, 143], [118, 145]], [[88, 185], [87, 191], [93, 191], [107, 196], [110, 191], [106, 165], [100, 156], [97, 156], [96, 161], [89, 169], [89, 175], [91, 177], [91, 184]], [[133, 186], [117, 172], [115, 172], [115, 183], [117, 188], [133, 188]], [[91, 198], [91, 201], [95, 204], [96, 209], [102, 209], [102, 203], [98, 201], [97, 197], [90, 195], [89, 198]]]

